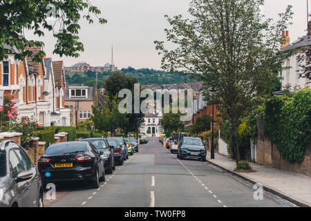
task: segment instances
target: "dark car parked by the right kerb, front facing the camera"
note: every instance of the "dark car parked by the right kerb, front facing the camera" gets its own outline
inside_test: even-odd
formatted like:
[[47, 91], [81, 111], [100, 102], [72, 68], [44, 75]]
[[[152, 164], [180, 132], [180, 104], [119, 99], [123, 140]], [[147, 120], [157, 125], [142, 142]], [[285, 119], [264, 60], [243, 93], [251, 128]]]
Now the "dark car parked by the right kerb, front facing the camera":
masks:
[[177, 158], [195, 158], [198, 160], [206, 160], [206, 149], [200, 138], [184, 137], [178, 145]]

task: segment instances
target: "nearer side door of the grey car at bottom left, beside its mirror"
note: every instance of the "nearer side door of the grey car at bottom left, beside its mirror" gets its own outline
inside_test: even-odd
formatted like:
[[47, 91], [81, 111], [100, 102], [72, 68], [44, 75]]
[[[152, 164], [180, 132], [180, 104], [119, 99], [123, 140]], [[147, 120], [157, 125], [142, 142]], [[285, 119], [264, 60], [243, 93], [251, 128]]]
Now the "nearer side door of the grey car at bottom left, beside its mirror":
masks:
[[10, 175], [12, 177], [12, 189], [14, 190], [14, 197], [17, 201], [17, 204], [20, 207], [31, 206], [28, 201], [28, 181], [17, 182], [17, 174], [21, 171], [25, 171], [23, 165], [19, 161], [15, 151], [10, 149], [8, 153], [8, 160], [10, 164]]

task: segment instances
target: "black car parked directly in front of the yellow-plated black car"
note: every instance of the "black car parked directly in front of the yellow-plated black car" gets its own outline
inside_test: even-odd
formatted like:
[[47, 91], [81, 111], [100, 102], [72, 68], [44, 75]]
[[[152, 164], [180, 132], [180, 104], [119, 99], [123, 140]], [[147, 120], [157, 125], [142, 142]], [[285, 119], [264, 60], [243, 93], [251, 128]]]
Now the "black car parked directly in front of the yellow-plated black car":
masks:
[[105, 160], [105, 173], [113, 173], [115, 170], [115, 154], [113, 146], [109, 145], [106, 138], [90, 138], [81, 141], [91, 142]]

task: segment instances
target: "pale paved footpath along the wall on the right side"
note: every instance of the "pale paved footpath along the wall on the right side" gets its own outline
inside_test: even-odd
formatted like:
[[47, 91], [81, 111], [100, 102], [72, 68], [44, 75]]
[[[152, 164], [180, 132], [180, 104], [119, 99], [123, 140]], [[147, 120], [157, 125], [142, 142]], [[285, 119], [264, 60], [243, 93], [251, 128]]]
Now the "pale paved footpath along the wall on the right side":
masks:
[[214, 160], [211, 160], [210, 156], [210, 152], [207, 152], [208, 162], [229, 173], [242, 177], [253, 184], [260, 183], [265, 190], [298, 206], [311, 206], [311, 177], [254, 163], [250, 164], [255, 172], [237, 173], [234, 171], [235, 160], [218, 153], [215, 153]]

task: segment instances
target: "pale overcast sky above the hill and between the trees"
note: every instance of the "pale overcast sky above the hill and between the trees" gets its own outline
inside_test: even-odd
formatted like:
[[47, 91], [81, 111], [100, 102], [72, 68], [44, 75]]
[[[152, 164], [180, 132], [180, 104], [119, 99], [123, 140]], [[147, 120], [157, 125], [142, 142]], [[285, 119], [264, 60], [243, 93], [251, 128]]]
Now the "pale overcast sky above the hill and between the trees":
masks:
[[[277, 19], [288, 5], [293, 6], [293, 25], [288, 28], [290, 41], [305, 35], [307, 29], [307, 0], [265, 0], [263, 13], [266, 18]], [[53, 55], [55, 39], [47, 32], [44, 41], [46, 57], [54, 61], [64, 60], [65, 66], [86, 61], [91, 66], [111, 63], [111, 46], [117, 68], [160, 69], [161, 57], [153, 41], [165, 41], [164, 28], [169, 28], [164, 15], [187, 17], [190, 0], [91, 0], [102, 11], [108, 23], [80, 23], [79, 37], [84, 44], [80, 57], [59, 57]], [[311, 10], [311, 1], [310, 1]], [[32, 37], [30, 32], [26, 37]], [[36, 38], [37, 39], [37, 38]]]

